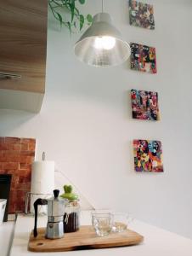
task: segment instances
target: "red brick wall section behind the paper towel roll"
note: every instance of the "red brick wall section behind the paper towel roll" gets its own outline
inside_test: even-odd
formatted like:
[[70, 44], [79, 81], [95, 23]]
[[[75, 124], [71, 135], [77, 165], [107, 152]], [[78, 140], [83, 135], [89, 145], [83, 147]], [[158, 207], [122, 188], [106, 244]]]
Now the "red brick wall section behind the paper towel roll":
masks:
[[31, 163], [36, 140], [0, 137], [0, 174], [12, 174], [8, 213], [24, 212], [25, 193], [31, 190]]

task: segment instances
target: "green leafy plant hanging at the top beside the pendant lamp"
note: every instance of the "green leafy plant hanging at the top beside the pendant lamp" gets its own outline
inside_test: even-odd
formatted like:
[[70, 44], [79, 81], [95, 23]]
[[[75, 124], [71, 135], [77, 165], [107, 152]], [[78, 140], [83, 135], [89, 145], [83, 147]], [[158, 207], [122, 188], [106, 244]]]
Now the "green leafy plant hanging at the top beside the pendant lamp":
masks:
[[76, 2], [84, 4], [85, 0], [48, 0], [54, 18], [59, 21], [60, 26], [66, 26], [70, 32], [77, 29], [81, 31], [85, 23], [90, 26], [93, 20], [92, 15], [80, 13]]

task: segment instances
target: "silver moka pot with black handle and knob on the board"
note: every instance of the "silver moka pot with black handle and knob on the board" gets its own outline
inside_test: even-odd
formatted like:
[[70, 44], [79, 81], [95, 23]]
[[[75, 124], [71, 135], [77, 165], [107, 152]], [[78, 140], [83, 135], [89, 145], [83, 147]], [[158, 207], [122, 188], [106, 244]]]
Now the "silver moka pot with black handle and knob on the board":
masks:
[[49, 199], [38, 198], [34, 202], [35, 209], [35, 226], [33, 230], [34, 237], [37, 236], [37, 210], [39, 205], [48, 205], [48, 224], [45, 237], [48, 239], [57, 239], [64, 236], [64, 214], [65, 199], [59, 198], [59, 190], [54, 190], [54, 197]]

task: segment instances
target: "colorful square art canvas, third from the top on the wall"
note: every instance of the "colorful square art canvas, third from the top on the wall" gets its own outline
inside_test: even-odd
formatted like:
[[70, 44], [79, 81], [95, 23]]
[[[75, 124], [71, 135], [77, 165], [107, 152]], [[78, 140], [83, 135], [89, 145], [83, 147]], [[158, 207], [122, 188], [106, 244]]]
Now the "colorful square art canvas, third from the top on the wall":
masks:
[[159, 120], [158, 93], [147, 90], [131, 90], [133, 119]]

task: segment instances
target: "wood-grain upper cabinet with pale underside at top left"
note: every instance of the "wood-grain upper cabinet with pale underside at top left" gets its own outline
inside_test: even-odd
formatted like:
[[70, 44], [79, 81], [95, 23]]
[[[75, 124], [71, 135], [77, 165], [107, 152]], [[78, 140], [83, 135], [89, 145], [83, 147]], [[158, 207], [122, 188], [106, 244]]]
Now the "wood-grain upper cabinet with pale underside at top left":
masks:
[[39, 112], [45, 92], [48, 0], [1, 0], [0, 108]]

